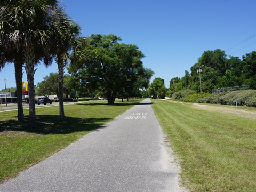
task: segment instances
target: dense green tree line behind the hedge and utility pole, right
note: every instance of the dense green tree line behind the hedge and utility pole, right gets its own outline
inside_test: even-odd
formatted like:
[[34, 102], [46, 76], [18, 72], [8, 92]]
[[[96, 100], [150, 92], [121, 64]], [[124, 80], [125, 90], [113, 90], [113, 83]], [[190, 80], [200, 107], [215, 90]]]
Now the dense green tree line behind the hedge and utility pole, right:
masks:
[[173, 77], [170, 87], [164, 89], [164, 79], [155, 78], [150, 84], [149, 93], [153, 98], [171, 96], [181, 90], [200, 92], [199, 69], [201, 69], [201, 87], [205, 93], [212, 93], [213, 89], [249, 85], [256, 89], [256, 51], [239, 57], [228, 56], [225, 51], [216, 49], [204, 51], [198, 62], [185, 70], [181, 78]]

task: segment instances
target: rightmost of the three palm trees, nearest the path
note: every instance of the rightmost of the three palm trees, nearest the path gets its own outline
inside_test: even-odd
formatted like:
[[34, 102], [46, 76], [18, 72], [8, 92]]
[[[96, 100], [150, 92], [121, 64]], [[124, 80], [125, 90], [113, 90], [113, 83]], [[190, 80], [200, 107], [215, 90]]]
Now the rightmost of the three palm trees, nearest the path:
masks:
[[64, 69], [68, 65], [68, 62], [71, 59], [69, 52], [73, 50], [76, 54], [79, 54], [80, 57], [85, 57], [83, 51], [79, 51], [81, 44], [83, 44], [83, 38], [81, 35], [81, 27], [74, 22], [70, 22], [68, 30], [66, 30], [65, 45], [62, 46], [62, 49], [57, 50], [56, 54], [56, 63], [58, 65], [59, 72], [59, 107], [60, 107], [60, 121], [63, 122], [65, 119], [64, 113], [64, 103], [63, 103], [63, 83], [64, 83]]

